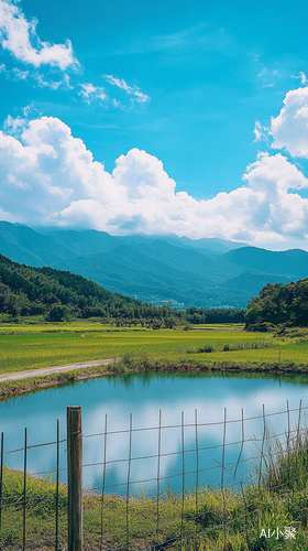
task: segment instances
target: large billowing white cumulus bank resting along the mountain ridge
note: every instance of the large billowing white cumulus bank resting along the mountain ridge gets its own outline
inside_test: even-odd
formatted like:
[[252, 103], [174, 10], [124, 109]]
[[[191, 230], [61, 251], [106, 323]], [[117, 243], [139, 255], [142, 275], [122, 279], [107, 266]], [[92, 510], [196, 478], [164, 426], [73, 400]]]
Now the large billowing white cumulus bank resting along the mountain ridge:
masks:
[[[9, 120], [11, 128], [22, 125]], [[177, 192], [155, 156], [132, 149], [112, 173], [59, 119], [24, 123], [21, 138], [0, 132], [0, 204], [7, 219], [82, 226], [111, 234], [175, 233], [252, 244], [308, 237], [308, 180], [280, 153], [260, 153], [244, 184], [197, 201]]]

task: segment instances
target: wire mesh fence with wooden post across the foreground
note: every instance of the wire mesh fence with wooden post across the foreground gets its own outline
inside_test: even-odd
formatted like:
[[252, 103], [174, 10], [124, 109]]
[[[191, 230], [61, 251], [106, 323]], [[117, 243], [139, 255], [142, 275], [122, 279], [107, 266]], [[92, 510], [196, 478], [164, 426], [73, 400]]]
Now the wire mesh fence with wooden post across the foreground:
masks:
[[[194, 422], [182, 412], [178, 424], [164, 423], [160, 411], [146, 428], [130, 414], [121, 430], [109, 429], [106, 414], [101, 432], [84, 434], [81, 409], [72, 407], [65, 437], [59, 420], [54, 440], [32, 445], [25, 429], [15, 450], [1, 432], [0, 551], [243, 551], [270, 549], [270, 539], [293, 549], [296, 538], [306, 541], [308, 521], [307, 409], [301, 400], [274, 413], [263, 406], [260, 415], [241, 410], [234, 420], [224, 408], [210, 423], [195, 410]], [[251, 434], [256, 423], [262, 430]], [[46, 451], [53, 468], [30, 467], [30, 454], [38, 461]]]

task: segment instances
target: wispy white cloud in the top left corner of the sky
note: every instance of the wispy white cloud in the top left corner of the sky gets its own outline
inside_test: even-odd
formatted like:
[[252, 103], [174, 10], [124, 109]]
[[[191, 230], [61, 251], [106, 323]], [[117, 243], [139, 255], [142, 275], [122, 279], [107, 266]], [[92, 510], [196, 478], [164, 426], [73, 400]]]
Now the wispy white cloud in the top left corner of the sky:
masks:
[[35, 31], [36, 20], [26, 21], [20, 8], [10, 1], [0, 0], [0, 40], [2, 47], [21, 62], [35, 67], [54, 65], [65, 71], [77, 65], [72, 43], [51, 44], [42, 42]]

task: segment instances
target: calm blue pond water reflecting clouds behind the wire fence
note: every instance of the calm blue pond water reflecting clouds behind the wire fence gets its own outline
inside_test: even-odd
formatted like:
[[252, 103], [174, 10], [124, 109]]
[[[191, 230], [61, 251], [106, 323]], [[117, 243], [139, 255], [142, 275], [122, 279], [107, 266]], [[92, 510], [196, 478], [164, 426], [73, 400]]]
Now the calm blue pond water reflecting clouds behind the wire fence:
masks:
[[[103, 472], [105, 489], [109, 494], [125, 495], [128, 472], [130, 491], [135, 495], [144, 489], [155, 494], [157, 473], [160, 491], [168, 488], [179, 491], [184, 486], [191, 489], [196, 484], [219, 486], [222, 462], [226, 465], [224, 484], [232, 485], [241, 479], [245, 482], [249, 473], [260, 465], [257, 456], [264, 430], [263, 406], [266, 426], [284, 440], [285, 431], [288, 428], [295, 430], [298, 424], [300, 400], [301, 426], [306, 424], [307, 380], [299, 376], [129, 374], [20, 396], [0, 402], [4, 464], [23, 468], [22, 447], [26, 426], [29, 473], [44, 476], [53, 472], [56, 465], [55, 444], [33, 446], [55, 442], [57, 419], [61, 439], [66, 439], [66, 407], [81, 406], [86, 488], [100, 491]], [[289, 415], [286, 411], [287, 401]], [[242, 446], [243, 430], [245, 442]], [[254, 443], [253, 437], [258, 442]], [[9, 453], [14, 450], [20, 451]], [[66, 482], [65, 441], [61, 443], [59, 450], [59, 477]], [[240, 464], [234, 478], [239, 456]], [[255, 458], [251, 461], [251, 457]]]

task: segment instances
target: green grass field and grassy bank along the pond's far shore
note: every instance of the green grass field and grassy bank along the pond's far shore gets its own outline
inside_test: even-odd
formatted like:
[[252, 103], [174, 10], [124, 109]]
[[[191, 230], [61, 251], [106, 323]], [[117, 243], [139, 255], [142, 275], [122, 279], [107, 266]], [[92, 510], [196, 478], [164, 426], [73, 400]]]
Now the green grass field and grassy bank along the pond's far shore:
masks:
[[100, 323], [0, 326], [0, 374], [82, 360], [121, 358], [112, 366], [72, 369], [2, 382], [0, 398], [46, 386], [136, 370], [308, 372], [308, 334], [246, 333], [241, 325], [193, 331], [119, 329]]

